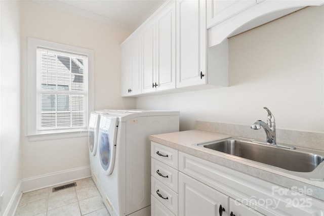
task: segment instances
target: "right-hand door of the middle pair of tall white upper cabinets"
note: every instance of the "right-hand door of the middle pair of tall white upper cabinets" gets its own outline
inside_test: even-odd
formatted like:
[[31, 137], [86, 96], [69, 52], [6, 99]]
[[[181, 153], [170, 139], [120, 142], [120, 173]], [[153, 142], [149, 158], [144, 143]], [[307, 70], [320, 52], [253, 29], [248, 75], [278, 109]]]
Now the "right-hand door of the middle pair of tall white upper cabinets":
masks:
[[176, 88], [175, 3], [156, 19], [156, 84], [156, 91]]

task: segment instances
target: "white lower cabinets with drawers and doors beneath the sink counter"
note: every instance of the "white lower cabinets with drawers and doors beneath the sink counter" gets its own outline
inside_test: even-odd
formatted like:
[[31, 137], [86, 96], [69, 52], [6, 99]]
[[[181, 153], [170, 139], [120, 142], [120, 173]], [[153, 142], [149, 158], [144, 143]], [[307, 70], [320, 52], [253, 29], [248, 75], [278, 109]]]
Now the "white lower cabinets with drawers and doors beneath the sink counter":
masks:
[[151, 215], [323, 216], [324, 202], [152, 142]]

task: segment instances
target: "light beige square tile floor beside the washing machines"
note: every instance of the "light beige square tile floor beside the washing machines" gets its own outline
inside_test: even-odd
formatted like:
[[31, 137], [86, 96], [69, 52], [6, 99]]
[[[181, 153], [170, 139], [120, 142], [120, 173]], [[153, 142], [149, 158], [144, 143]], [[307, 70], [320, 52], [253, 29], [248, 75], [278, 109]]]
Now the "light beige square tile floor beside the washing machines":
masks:
[[16, 216], [109, 216], [92, 178], [76, 181], [76, 187], [52, 192], [53, 187], [24, 193]]

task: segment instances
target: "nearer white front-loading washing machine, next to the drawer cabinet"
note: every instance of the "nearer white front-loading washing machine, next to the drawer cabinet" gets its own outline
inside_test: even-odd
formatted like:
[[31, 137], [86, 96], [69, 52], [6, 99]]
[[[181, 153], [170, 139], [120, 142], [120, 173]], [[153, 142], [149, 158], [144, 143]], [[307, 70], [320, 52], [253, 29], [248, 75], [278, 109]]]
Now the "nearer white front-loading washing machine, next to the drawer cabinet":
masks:
[[101, 115], [98, 181], [111, 216], [150, 215], [149, 136], [177, 131], [178, 111], [109, 110]]

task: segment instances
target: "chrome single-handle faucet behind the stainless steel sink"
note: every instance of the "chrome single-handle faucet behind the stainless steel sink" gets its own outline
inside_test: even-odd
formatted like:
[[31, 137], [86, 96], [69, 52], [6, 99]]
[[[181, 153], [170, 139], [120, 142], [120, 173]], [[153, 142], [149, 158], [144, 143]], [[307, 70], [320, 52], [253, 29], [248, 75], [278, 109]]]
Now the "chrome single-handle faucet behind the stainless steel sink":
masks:
[[276, 134], [275, 134], [275, 120], [273, 114], [266, 107], [263, 107], [268, 112], [267, 123], [261, 120], [257, 120], [251, 125], [252, 129], [260, 129], [263, 127], [267, 135], [267, 143], [271, 145], [276, 145]]

